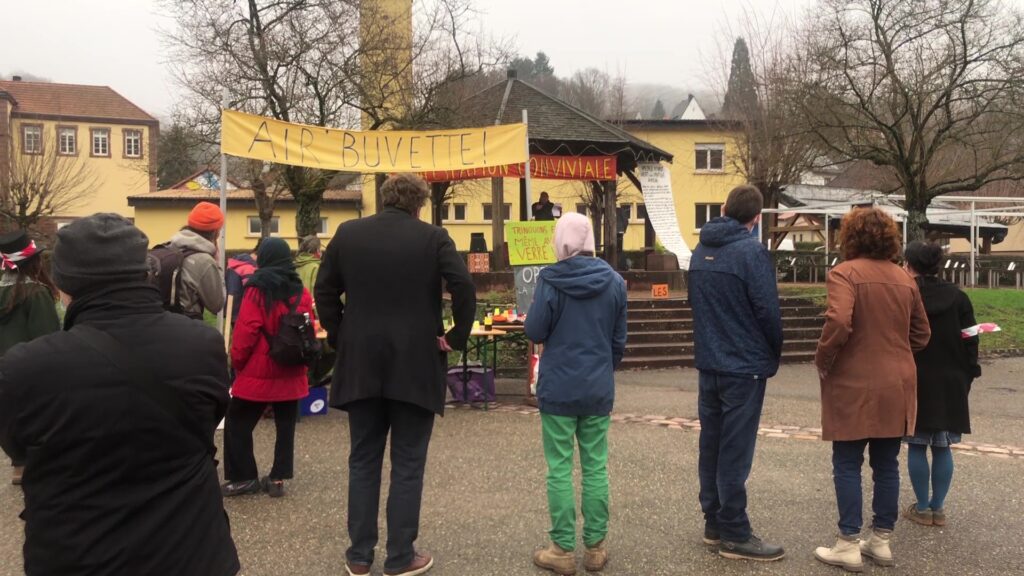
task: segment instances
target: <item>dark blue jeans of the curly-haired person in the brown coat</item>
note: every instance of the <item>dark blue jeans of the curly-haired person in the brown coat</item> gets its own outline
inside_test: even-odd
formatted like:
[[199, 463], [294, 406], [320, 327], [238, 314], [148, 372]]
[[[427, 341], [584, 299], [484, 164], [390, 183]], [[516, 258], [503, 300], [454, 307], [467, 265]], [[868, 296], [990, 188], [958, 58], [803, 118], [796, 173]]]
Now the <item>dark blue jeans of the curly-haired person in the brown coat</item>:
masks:
[[899, 517], [899, 444], [898, 438], [872, 438], [833, 442], [833, 477], [839, 503], [839, 531], [844, 536], [860, 534], [864, 497], [860, 468], [864, 465], [864, 447], [870, 457], [874, 495], [872, 526], [892, 530]]

